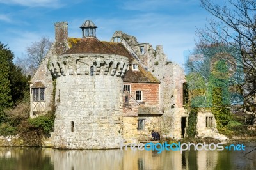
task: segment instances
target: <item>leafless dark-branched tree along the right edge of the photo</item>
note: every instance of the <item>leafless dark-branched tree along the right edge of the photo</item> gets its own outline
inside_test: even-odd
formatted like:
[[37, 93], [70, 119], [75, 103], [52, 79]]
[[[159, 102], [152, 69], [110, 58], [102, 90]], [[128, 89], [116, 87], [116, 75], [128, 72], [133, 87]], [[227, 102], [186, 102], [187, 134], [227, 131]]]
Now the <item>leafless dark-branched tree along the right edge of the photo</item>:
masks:
[[256, 1], [227, 0], [216, 4], [200, 0], [200, 4], [215, 19], [207, 20], [205, 29], [197, 29], [200, 40], [196, 47], [204, 50], [215, 45], [235, 49], [230, 55], [242, 64], [244, 72], [244, 82], [239, 84], [244, 97], [240, 109], [252, 115], [250, 124], [253, 125], [256, 113]]

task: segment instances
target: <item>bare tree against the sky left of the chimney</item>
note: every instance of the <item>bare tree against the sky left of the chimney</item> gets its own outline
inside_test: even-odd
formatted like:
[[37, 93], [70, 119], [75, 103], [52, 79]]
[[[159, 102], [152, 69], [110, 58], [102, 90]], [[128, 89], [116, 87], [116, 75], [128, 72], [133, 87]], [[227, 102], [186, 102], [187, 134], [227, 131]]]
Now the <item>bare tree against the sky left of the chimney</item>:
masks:
[[48, 36], [43, 36], [38, 42], [33, 42], [26, 48], [26, 56], [17, 58], [16, 65], [23, 69], [26, 75], [33, 75], [42, 63], [52, 45]]

